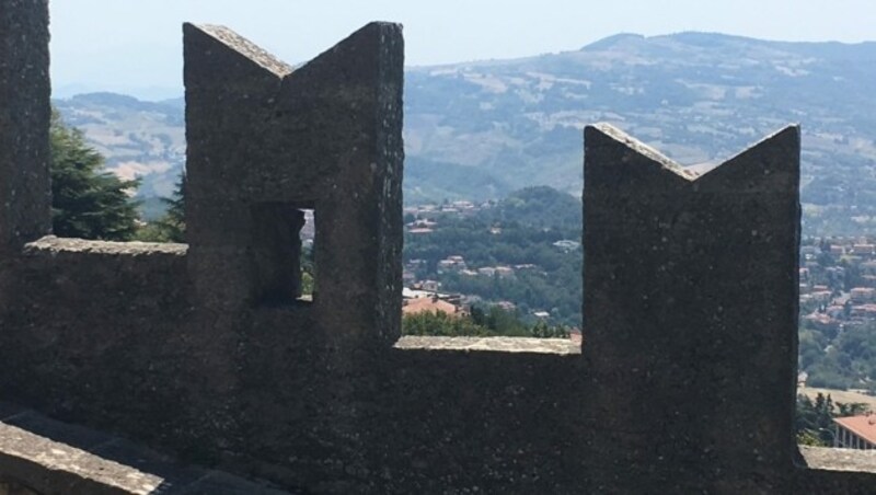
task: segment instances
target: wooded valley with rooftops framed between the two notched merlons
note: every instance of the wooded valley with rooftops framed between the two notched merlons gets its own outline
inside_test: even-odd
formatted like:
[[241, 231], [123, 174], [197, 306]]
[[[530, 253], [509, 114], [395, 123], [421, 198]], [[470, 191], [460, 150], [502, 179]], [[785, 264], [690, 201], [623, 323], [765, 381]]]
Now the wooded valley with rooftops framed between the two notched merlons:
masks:
[[405, 207], [402, 334], [580, 347], [581, 214], [550, 187]]

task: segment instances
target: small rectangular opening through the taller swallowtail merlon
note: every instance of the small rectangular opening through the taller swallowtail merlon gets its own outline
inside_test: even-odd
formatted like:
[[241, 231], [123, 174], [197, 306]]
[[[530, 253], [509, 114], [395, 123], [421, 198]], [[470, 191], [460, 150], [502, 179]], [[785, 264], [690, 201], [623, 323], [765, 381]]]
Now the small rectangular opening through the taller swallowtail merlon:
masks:
[[252, 219], [258, 302], [311, 303], [315, 293], [313, 204], [262, 203], [253, 207]]

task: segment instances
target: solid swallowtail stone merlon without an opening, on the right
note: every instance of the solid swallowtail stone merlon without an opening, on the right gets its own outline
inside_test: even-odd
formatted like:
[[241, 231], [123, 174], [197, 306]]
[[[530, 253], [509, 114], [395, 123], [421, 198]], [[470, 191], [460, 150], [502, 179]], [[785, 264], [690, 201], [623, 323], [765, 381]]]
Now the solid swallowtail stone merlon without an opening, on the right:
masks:
[[702, 176], [610, 126], [586, 129], [584, 354], [604, 428], [590, 445], [606, 453], [587, 472], [598, 487], [719, 491], [728, 475], [784, 486], [798, 177], [797, 127]]

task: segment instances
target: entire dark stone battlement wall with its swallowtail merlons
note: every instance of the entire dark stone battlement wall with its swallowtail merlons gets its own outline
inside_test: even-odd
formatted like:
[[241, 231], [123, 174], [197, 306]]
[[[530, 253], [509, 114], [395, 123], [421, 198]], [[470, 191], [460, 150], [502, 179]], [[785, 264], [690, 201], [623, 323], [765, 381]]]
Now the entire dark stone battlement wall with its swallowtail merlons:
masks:
[[[399, 339], [400, 26], [295, 71], [227, 28], [184, 32], [191, 245], [34, 234], [0, 252], [0, 396], [303, 493], [876, 492], [869, 472], [794, 465], [797, 128], [700, 177], [588, 128], [584, 349]], [[0, 416], [8, 486], [44, 490], [27, 474], [55, 460], [44, 440], [155, 472], [107, 435]], [[27, 433], [44, 440], [15, 444]]]

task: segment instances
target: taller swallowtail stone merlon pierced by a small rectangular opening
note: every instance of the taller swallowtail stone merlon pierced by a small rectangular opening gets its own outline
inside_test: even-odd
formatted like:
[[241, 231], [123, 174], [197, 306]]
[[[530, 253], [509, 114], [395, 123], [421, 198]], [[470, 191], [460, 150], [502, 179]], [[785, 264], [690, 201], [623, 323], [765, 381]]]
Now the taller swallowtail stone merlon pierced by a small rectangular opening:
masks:
[[389, 345], [400, 332], [401, 27], [369, 24], [295, 71], [224, 27], [186, 24], [184, 34], [198, 300], [245, 308], [293, 299], [293, 210], [312, 207], [318, 295], [309, 311], [321, 323], [307, 330]]

